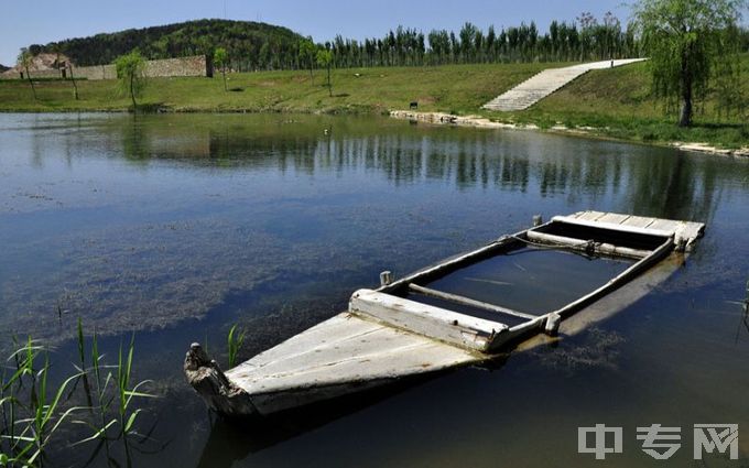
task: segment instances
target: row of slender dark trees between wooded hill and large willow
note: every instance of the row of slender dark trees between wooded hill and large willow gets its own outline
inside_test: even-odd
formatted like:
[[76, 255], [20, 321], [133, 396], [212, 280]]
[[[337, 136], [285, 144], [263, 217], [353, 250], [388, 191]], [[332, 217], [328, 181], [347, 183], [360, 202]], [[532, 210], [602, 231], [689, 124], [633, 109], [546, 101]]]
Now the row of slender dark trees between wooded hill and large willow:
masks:
[[336, 67], [576, 62], [631, 57], [640, 52], [633, 29], [622, 28], [611, 12], [601, 21], [588, 12], [572, 23], [552, 21], [545, 33], [534, 22], [499, 31], [495, 26], [482, 31], [467, 22], [457, 32], [443, 29], [424, 34], [399, 26], [379, 39], [338, 35], [324, 46], [333, 52]]

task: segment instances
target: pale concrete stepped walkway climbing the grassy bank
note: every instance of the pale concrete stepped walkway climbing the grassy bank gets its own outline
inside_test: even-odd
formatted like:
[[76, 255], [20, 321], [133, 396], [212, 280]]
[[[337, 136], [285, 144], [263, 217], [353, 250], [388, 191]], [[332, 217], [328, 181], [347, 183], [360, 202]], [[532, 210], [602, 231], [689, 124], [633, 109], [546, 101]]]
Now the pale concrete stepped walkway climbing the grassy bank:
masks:
[[645, 58], [626, 58], [619, 61], [591, 62], [564, 68], [546, 68], [524, 80], [520, 85], [498, 96], [482, 106], [488, 110], [523, 110], [560, 89], [567, 83], [591, 69], [611, 68], [642, 62]]

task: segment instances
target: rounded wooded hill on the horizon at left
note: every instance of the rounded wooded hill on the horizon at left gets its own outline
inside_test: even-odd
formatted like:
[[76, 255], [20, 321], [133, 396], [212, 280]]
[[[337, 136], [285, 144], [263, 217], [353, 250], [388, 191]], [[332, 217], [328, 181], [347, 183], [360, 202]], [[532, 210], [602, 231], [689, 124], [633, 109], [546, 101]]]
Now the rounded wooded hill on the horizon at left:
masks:
[[134, 47], [146, 58], [156, 59], [209, 53], [221, 46], [229, 52], [232, 68], [251, 70], [289, 68], [297, 55], [300, 39], [286, 28], [265, 23], [197, 20], [35, 44], [30, 50], [33, 54], [62, 52], [76, 65], [86, 66], [112, 63]]

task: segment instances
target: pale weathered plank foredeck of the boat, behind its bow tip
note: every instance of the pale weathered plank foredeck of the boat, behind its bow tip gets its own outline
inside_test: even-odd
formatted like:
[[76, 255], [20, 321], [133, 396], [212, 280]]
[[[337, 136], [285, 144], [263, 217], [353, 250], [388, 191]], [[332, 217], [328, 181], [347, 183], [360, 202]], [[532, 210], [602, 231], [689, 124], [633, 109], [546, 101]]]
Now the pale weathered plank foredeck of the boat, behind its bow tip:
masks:
[[226, 376], [248, 393], [258, 394], [397, 379], [480, 359], [468, 350], [344, 313]]

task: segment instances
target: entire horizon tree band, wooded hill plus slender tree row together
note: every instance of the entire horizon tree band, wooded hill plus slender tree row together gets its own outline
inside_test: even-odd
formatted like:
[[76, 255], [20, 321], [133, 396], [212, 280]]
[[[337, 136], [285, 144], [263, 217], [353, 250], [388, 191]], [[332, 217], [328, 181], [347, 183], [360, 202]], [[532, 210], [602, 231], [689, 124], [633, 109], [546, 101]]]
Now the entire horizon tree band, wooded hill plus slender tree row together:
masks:
[[[739, 29], [738, 34], [741, 50], [749, 51], [749, 31]], [[225, 66], [232, 72], [314, 68], [318, 66], [319, 50], [330, 52], [334, 68], [578, 62], [642, 54], [633, 25], [622, 25], [611, 12], [600, 20], [584, 12], [573, 22], [552, 21], [546, 32], [541, 32], [534, 22], [499, 30], [489, 26], [486, 31], [467, 22], [458, 31], [435, 29], [425, 34], [398, 26], [382, 37], [355, 40], [337, 35], [324, 43], [264, 23], [199, 20], [32, 45], [29, 51], [63, 53], [84, 66], [112, 63], [133, 48], [148, 59], [158, 59], [213, 56], [217, 47], [226, 50]]]

